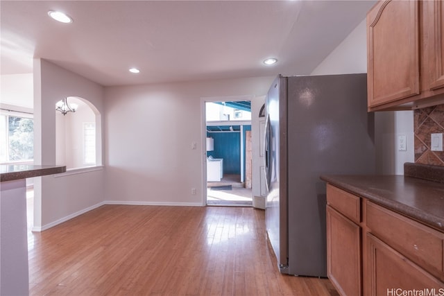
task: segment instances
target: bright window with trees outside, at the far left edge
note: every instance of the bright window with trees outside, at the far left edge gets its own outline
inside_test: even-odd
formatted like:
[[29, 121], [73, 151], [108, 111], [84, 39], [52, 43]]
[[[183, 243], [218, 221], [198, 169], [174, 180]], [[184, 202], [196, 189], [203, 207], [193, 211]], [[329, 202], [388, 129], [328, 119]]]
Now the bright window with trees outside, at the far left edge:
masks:
[[33, 119], [0, 114], [0, 162], [32, 162], [33, 157]]

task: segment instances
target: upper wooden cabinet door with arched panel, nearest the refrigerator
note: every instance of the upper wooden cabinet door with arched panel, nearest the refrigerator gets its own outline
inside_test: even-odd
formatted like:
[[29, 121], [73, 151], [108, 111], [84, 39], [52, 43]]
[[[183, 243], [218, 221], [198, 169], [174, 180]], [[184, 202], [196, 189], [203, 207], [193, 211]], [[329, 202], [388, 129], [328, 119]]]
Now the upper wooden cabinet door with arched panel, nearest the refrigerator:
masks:
[[418, 1], [380, 1], [367, 15], [368, 107], [420, 93]]

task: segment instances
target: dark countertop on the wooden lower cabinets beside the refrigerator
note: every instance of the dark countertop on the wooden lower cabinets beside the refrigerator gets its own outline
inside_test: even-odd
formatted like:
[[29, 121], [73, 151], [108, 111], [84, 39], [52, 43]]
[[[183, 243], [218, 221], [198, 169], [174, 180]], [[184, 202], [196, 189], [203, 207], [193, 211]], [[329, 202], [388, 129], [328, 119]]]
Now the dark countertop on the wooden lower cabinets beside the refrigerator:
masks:
[[444, 232], [444, 184], [404, 175], [323, 175], [321, 179]]

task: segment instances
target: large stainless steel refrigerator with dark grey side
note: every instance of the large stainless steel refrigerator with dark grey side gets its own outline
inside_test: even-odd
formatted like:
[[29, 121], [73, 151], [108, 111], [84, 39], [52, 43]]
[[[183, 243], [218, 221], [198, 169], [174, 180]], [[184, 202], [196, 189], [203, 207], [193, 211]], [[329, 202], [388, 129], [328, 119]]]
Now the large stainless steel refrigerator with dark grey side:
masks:
[[282, 273], [327, 276], [319, 176], [375, 173], [366, 77], [278, 76], [268, 91], [266, 231]]

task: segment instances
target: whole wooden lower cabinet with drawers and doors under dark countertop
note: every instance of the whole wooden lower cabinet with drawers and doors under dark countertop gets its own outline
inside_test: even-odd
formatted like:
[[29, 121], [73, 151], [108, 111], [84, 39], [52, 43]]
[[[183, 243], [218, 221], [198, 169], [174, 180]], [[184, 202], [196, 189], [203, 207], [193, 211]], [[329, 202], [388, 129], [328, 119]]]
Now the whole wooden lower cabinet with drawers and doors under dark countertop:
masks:
[[327, 184], [327, 275], [342, 296], [444, 296], [444, 233]]

